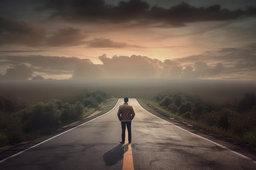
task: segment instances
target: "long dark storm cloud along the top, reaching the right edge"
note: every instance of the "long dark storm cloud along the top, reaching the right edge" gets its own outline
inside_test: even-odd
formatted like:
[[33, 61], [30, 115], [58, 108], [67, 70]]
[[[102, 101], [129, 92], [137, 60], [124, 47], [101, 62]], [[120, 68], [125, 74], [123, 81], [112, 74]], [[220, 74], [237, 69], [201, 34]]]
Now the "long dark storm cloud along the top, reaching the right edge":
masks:
[[40, 10], [53, 10], [49, 19], [63, 18], [67, 21], [127, 22], [142, 20], [148, 23], [165, 22], [184, 25], [187, 22], [234, 20], [256, 14], [255, 7], [245, 10], [223, 9], [220, 5], [194, 7], [182, 2], [169, 8], [151, 7], [143, 0], [120, 1], [117, 5], [106, 4], [104, 0], [49, 0]]

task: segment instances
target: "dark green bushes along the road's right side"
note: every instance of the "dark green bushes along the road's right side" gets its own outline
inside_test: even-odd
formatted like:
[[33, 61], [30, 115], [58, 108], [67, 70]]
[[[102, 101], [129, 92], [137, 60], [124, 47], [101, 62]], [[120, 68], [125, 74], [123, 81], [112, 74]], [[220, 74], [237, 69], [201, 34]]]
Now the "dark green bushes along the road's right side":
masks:
[[146, 102], [177, 119], [256, 146], [256, 95], [246, 93], [221, 106], [182, 92], [164, 92]]

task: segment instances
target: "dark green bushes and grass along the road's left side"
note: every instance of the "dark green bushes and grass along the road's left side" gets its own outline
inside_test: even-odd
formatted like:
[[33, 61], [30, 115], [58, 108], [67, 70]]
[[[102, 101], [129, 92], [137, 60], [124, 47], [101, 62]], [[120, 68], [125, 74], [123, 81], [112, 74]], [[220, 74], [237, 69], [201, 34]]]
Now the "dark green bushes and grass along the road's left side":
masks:
[[109, 99], [103, 91], [83, 90], [73, 103], [50, 99], [26, 107], [18, 100], [0, 96], [0, 147], [49, 134], [94, 113]]

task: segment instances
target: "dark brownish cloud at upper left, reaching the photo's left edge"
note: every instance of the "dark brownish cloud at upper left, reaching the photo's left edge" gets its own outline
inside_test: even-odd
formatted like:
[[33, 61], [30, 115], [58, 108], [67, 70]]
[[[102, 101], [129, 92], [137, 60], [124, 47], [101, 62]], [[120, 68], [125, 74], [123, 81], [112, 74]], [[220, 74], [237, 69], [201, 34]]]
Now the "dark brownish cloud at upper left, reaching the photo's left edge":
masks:
[[0, 18], [0, 44], [19, 44], [23, 46], [77, 46], [85, 44], [88, 35], [82, 29], [67, 27], [58, 29], [52, 35], [36, 24]]

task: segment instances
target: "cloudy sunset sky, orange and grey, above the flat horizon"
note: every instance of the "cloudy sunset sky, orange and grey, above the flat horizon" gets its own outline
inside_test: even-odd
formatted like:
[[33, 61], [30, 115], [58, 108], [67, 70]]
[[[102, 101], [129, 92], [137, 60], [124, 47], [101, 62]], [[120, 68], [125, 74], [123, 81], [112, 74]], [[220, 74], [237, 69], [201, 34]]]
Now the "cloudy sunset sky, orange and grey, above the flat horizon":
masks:
[[0, 80], [256, 80], [255, 0], [1, 0]]

